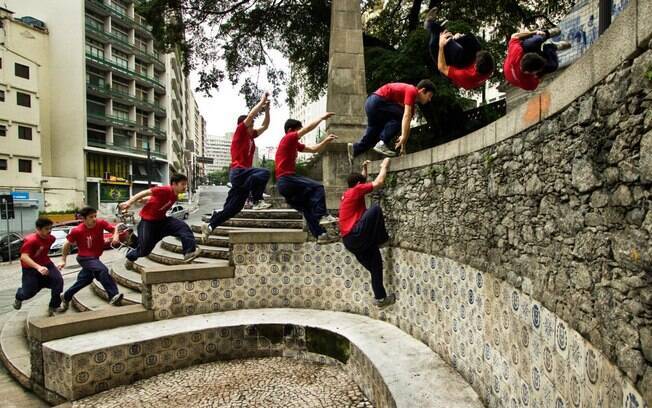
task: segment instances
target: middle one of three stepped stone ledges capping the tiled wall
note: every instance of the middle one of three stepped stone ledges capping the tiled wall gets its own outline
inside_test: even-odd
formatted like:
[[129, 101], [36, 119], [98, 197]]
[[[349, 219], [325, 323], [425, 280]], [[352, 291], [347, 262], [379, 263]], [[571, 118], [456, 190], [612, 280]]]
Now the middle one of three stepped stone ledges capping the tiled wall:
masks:
[[185, 282], [204, 279], [233, 278], [234, 268], [228, 262], [187, 265], [161, 265], [142, 272], [143, 284]]

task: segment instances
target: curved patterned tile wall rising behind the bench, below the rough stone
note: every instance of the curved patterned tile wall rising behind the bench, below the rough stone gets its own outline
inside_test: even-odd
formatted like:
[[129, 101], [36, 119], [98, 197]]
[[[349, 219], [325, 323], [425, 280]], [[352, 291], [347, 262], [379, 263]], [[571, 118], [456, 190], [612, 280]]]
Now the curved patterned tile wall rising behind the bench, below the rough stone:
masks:
[[300, 307], [386, 320], [428, 344], [489, 407], [647, 405], [602, 353], [536, 300], [449, 259], [384, 249], [398, 294], [371, 305], [368, 272], [340, 243], [237, 244], [235, 278], [151, 285], [157, 319], [219, 310]]

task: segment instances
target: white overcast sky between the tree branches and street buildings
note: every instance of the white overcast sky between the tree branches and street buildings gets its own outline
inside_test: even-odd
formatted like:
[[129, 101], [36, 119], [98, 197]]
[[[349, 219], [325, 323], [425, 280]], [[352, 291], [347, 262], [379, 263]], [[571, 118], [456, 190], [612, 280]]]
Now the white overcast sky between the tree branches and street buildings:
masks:
[[[277, 66], [285, 67], [286, 72], [289, 72], [288, 62], [282, 57], [276, 55], [274, 63]], [[260, 77], [263, 77], [262, 73]], [[196, 88], [199, 82], [199, 76], [196, 73], [192, 73], [190, 75], [190, 82], [193, 89]], [[238, 89], [239, 85], [233, 86], [227, 79], [222, 82], [219, 91], [213, 92], [212, 97], [207, 97], [201, 92], [195, 92], [199, 110], [206, 119], [206, 132], [208, 135], [221, 136], [226, 132], [233, 132], [238, 116], [248, 113], [244, 97], [238, 93]], [[283, 90], [282, 95], [279, 97], [279, 103], [280, 106], [272, 105], [269, 129], [260, 138], [256, 139], [256, 145], [258, 146], [261, 157], [265, 154], [265, 147], [276, 147], [281, 137], [283, 137], [283, 124], [288, 119], [288, 107], [285, 104], [285, 90]], [[259, 116], [256, 120], [256, 125], [259, 125], [262, 120], [263, 117]]]

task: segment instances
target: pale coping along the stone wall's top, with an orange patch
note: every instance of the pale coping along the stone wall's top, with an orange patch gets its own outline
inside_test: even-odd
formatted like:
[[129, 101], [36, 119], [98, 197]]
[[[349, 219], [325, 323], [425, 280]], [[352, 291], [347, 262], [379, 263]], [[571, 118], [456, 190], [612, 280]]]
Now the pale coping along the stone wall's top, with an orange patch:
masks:
[[[609, 29], [548, 86], [489, 125], [443, 145], [392, 159], [390, 172], [424, 167], [480, 151], [561, 112], [606, 78], [623, 61], [647, 48], [652, 36], [652, 0], [630, 0]], [[382, 160], [369, 166], [377, 174]]]

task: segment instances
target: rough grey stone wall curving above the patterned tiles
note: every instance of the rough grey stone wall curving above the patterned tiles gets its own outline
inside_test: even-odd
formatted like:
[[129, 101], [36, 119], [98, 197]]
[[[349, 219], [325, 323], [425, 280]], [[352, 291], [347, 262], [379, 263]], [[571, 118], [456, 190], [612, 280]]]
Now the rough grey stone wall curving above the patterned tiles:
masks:
[[392, 245], [491, 272], [554, 311], [652, 400], [652, 51], [558, 115], [392, 172]]

